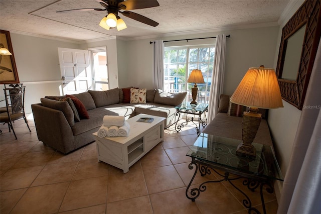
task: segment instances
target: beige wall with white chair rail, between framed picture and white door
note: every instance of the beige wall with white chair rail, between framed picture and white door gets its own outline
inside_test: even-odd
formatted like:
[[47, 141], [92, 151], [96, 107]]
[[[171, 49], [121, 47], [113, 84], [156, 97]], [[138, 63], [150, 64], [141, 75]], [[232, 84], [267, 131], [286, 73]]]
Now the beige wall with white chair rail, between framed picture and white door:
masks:
[[[26, 86], [25, 110], [46, 95], [59, 95], [61, 74], [58, 47], [79, 48], [64, 40], [53, 40], [10, 32], [19, 80]], [[3, 86], [0, 90], [3, 91]], [[3, 93], [1, 93], [3, 97]], [[1, 103], [3, 105], [5, 103]]]

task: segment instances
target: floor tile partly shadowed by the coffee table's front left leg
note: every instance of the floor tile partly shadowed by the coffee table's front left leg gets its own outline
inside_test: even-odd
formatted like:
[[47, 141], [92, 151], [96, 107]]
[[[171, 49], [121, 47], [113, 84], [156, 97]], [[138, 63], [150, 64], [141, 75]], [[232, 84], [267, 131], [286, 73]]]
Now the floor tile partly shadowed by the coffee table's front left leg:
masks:
[[103, 162], [98, 163], [97, 159], [79, 161], [72, 180], [108, 176], [109, 165]]

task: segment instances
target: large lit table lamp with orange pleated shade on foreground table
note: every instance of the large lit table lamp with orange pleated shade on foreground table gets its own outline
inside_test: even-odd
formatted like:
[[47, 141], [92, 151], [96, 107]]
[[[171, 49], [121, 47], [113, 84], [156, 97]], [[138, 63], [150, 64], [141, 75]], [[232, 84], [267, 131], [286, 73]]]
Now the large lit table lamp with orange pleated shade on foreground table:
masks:
[[261, 123], [260, 109], [283, 107], [279, 84], [272, 68], [249, 68], [240, 84], [232, 94], [230, 101], [249, 107], [243, 113], [242, 143], [236, 153], [256, 156], [252, 142]]

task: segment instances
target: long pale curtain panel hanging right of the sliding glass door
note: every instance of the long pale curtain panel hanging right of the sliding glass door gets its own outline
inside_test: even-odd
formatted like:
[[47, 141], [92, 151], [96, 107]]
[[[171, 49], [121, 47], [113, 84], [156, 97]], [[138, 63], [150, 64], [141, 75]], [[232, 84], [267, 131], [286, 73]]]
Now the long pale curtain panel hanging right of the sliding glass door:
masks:
[[223, 93], [225, 43], [225, 34], [216, 36], [214, 71], [210, 88], [208, 123], [210, 123], [217, 115], [220, 95]]

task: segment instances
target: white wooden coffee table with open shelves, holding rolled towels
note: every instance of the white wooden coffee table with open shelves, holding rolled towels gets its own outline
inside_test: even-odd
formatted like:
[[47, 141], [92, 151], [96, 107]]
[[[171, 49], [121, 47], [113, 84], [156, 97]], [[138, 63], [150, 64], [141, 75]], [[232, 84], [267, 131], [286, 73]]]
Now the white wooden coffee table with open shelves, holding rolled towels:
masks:
[[[137, 122], [139, 118], [153, 118], [152, 123]], [[128, 137], [96, 137], [97, 158], [124, 173], [159, 142], [164, 141], [166, 118], [139, 114], [127, 120], [130, 125]]]

